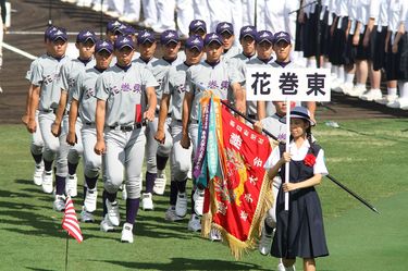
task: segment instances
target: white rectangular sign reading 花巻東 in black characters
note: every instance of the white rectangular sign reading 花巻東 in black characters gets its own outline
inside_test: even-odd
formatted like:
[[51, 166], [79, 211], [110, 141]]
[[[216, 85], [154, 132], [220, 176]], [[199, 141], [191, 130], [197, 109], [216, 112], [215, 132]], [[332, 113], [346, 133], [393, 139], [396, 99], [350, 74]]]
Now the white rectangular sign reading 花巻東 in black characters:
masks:
[[330, 101], [329, 69], [248, 67], [247, 100]]

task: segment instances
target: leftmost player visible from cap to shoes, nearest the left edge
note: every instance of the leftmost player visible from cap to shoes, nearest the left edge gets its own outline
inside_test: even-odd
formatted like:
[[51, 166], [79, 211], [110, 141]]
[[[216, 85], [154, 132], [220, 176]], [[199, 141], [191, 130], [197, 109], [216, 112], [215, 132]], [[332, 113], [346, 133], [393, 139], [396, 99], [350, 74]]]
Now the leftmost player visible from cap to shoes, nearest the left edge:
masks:
[[[42, 190], [52, 193], [52, 162], [57, 155], [60, 158], [60, 140], [51, 133], [51, 124], [55, 120], [55, 111], [60, 100], [60, 71], [61, 66], [69, 61], [65, 58], [67, 46], [66, 32], [59, 28], [50, 34], [52, 41], [50, 54], [44, 56], [37, 61], [37, 65], [32, 74], [33, 94], [29, 103], [29, 119], [27, 130], [30, 133], [36, 132], [36, 109], [38, 108], [38, 124], [45, 143], [44, 167], [45, 174], [42, 178]], [[57, 211], [65, 209], [65, 177], [67, 174], [66, 163], [60, 159], [57, 163], [55, 173], [55, 199], [53, 208]]]

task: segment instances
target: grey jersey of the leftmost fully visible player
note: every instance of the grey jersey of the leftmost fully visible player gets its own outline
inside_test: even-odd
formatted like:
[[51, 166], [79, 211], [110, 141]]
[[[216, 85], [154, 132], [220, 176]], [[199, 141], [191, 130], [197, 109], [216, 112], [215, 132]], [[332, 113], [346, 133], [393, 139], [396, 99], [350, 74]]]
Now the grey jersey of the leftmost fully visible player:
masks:
[[57, 109], [61, 97], [61, 66], [69, 62], [67, 57], [61, 59], [44, 54], [36, 61], [30, 82], [40, 86], [40, 100], [38, 109], [48, 111]]

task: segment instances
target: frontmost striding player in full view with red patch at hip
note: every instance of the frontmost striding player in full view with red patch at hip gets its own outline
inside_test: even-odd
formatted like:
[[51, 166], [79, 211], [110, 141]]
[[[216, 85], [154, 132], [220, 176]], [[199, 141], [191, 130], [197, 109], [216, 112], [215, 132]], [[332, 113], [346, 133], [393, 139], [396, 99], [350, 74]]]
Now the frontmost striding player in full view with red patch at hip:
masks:
[[134, 50], [133, 40], [120, 36], [114, 42], [116, 65], [103, 72], [96, 83], [95, 152], [103, 155], [106, 167], [102, 195], [106, 209], [101, 226], [103, 223], [112, 227], [120, 224], [116, 193], [125, 178], [126, 222], [121, 236], [125, 243], [133, 243], [132, 231], [139, 208], [146, 145], [144, 120], [154, 119], [154, 87], [158, 86], [149, 70], [132, 62]]

